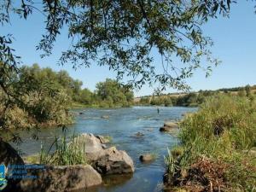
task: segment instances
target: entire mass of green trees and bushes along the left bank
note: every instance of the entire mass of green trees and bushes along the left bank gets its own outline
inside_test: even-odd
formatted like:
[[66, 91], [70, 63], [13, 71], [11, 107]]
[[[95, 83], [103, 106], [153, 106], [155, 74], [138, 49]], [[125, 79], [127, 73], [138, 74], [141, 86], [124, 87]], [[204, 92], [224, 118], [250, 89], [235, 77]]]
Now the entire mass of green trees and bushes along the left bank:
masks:
[[9, 73], [8, 87], [9, 94], [0, 91], [0, 127], [8, 129], [68, 125], [73, 123], [71, 108], [121, 108], [133, 102], [131, 89], [116, 80], [99, 82], [92, 92], [67, 71], [55, 72], [38, 64]]

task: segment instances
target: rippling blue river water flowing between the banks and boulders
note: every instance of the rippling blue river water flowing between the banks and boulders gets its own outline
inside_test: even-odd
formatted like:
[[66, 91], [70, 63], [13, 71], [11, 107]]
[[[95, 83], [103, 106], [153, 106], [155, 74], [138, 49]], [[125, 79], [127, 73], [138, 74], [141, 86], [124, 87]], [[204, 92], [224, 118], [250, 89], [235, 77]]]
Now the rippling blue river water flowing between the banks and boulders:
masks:
[[[110, 146], [125, 150], [134, 161], [135, 172], [132, 176], [104, 178], [102, 187], [94, 189], [97, 192], [156, 192], [161, 191], [162, 176], [165, 172], [164, 155], [167, 148], [178, 144], [175, 136], [159, 131], [160, 126], [167, 120], [182, 118], [183, 113], [194, 112], [196, 108], [160, 108], [133, 107], [113, 109], [75, 109], [76, 123], [68, 126], [67, 134], [73, 132], [93, 133], [112, 137]], [[109, 119], [102, 119], [108, 115]], [[38, 132], [39, 140], [35, 141], [27, 132], [21, 132], [23, 143], [19, 146], [24, 155], [36, 154], [41, 142], [52, 143], [55, 136], [61, 135], [61, 128], [45, 128]], [[143, 137], [136, 137], [136, 133]], [[156, 160], [143, 164], [139, 156], [144, 153], [154, 153]]]

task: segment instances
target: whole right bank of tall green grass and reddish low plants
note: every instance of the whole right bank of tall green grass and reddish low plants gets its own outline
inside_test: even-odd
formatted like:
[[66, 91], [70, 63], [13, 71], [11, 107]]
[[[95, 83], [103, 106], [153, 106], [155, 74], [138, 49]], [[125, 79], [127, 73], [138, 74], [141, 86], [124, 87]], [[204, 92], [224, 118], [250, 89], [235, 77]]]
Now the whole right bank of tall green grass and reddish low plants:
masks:
[[256, 190], [256, 101], [212, 96], [181, 123], [166, 157], [166, 186], [183, 191]]

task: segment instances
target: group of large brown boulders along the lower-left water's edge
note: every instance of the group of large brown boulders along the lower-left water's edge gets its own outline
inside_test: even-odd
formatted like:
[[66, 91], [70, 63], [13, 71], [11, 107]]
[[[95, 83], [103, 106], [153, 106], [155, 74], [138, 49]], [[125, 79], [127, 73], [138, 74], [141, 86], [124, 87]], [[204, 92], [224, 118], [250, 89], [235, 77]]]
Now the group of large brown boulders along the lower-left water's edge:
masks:
[[[135, 171], [133, 160], [125, 151], [115, 147], [107, 148], [107, 138], [84, 133], [76, 139], [76, 143], [85, 146], [86, 165], [43, 165], [43, 169], [26, 169], [27, 177], [33, 176], [36, 179], [8, 179], [8, 187], [4, 191], [76, 191], [101, 185], [102, 176], [131, 175]], [[3, 141], [0, 141], [0, 164], [6, 167], [36, 166], [24, 162], [15, 148]], [[7, 170], [7, 175], [9, 172]]]

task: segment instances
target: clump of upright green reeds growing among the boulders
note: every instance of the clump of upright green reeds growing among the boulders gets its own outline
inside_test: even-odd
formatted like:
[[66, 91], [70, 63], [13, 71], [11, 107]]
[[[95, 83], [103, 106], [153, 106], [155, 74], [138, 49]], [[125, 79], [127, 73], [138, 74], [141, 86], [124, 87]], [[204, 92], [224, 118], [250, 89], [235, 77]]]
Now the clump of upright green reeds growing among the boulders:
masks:
[[[41, 145], [39, 153], [39, 163], [55, 166], [73, 166], [86, 164], [84, 144], [78, 143], [76, 135], [68, 140], [66, 132], [62, 137], [55, 137], [54, 143], [46, 150], [45, 145]], [[50, 154], [52, 148], [55, 147], [55, 152]]]

